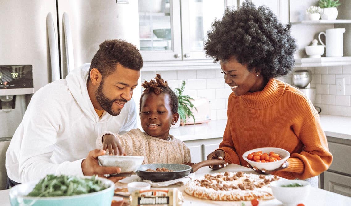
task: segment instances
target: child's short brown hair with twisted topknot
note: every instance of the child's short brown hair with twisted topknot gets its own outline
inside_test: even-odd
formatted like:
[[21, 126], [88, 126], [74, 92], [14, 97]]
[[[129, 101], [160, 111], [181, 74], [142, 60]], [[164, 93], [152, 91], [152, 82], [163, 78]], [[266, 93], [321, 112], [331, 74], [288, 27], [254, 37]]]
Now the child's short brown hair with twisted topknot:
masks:
[[165, 92], [170, 96], [170, 104], [171, 104], [171, 109], [172, 109], [172, 114], [175, 114], [178, 112], [178, 97], [174, 93], [174, 91], [168, 87], [167, 81], [164, 81], [163, 78], [161, 78], [160, 74], [156, 74], [155, 80], [150, 80], [150, 82], [145, 81], [143, 84], [141, 84], [142, 87], [145, 88], [143, 91], [143, 94], [141, 94], [140, 97], [140, 102], [139, 102], [139, 112], [141, 112], [141, 99], [143, 99], [143, 96], [145, 94], [149, 93], [155, 93], [155, 94], [160, 94], [161, 92]]

